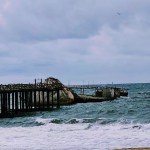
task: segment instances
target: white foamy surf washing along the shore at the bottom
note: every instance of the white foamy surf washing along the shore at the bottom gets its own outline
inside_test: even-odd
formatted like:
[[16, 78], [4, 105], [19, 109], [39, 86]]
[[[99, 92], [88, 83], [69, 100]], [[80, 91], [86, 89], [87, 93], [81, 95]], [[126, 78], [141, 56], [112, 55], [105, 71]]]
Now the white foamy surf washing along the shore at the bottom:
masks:
[[105, 150], [122, 147], [150, 147], [150, 124], [46, 123], [0, 128], [0, 149]]

